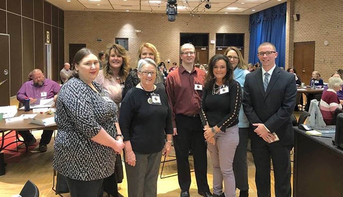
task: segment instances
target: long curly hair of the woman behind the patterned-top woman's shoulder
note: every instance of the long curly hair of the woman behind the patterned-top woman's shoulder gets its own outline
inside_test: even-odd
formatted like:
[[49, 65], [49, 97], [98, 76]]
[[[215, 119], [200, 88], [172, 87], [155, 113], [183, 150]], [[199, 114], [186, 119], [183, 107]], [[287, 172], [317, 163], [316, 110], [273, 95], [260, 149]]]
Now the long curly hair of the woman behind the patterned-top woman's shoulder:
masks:
[[118, 45], [118, 44], [113, 44], [111, 47], [109, 47], [108, 49], [108, 56], [106, 57], [106, 64], [103, 68], [103, 72], [104, 72], [104, 76], [106, 79], [111, 79], [113, 78], [113, 70], [111, 68], [111, 66], [109, 65], [109, 57], [110, 57], [110, 53], [111, 53], [111, 50], [116, 53], [116, 54], [119, 54], [122, 56], [123, 58], [123, 63], [122, 63], [122, 66], [120, 67], [120, 71], [119, 71], [119, 77], [125, 81], [126, 80], [126, 77], [128, 75], [128, 73], [130, 72], [130, 64], [129, 64], [129, 58], [128, 56], [126, 55], [126, 50], [123, 46], [121, 45]]

